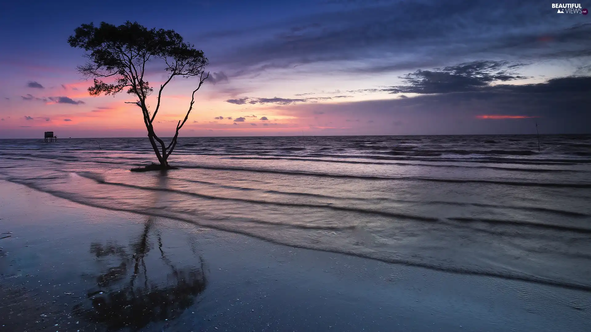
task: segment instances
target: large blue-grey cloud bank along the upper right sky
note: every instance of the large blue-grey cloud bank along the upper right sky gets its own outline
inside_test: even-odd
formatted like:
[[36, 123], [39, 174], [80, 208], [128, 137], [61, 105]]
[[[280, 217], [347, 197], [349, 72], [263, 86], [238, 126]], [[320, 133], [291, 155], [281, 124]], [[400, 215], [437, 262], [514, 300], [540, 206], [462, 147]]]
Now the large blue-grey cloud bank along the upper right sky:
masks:
[[550, 3], [534, 0], [358, 2], [229, 32], [225, 38], [247, 40], [251, 34], [257, 41], [218, 61], [241, 75], [332, 60], [364, 60], [357, 70], [383, 72], [445, 66], [483, 54], [532, 61], [589, 55], [591, 25], [584, 15], [563, 16]]

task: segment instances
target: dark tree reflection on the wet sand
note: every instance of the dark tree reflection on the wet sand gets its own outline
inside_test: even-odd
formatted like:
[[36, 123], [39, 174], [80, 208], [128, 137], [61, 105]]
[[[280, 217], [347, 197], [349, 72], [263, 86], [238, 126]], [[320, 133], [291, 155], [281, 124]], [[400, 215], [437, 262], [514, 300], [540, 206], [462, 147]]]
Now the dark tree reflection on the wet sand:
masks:
[[[203, 259], [198, 258], [198, 266], [177, 268], [163, 250], [155, 222], [148, 218], [142, 234], [128, 247], [115, 242], [90, 245], [90, 253], [110, 267], [96, 276], [96, 288], [87, 292], [90, 303], [76, 305], [74, 314], [108, 330], [139, 330], [152, 322], [174, 320], [195, 303], [207, 285]], [[167, 273], [160, 264], [150, 269], [151, 261], [147, 262], [154, 236]]]

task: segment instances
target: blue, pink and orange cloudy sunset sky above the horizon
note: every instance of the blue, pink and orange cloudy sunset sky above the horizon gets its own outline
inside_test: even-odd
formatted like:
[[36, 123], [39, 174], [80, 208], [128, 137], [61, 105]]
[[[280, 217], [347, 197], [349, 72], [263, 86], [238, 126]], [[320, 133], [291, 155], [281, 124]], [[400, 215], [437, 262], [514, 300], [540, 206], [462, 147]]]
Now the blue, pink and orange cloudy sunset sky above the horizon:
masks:
[[[0, 138], [145, 136], [130, 95], [89, 96], [83, 51], [67, 43], [80, 24], [126, 20], [174, 29], [209, 58], [181, 136], [589, 133], [591, 15], [552, 3], [7, 1]], [[158, 135], [197, 83], [167, 87]]]

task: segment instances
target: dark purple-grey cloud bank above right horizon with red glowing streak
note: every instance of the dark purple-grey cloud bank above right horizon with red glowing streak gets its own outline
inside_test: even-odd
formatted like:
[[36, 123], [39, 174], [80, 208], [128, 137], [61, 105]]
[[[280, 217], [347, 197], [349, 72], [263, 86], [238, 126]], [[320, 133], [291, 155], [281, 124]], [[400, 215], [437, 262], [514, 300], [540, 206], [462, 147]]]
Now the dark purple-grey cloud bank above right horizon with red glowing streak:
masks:
[[[535, 84], [492, 84], [388, 100], [288, 106], [310, 118], [371, 118], [380, 128], [390, 121], [404, 123], [398, 134], [535, 134], [535, 118], [545, 133], [590, 133], [591, 77], [559, 77]], [[422, 90], [419, 90], [422, 91]], [[430, 92], [434, 92], [431, 90]], [[485, 116], [486, 115], [486, 116]], [[492, 115], [492, 116], [491, 116]], [[502, 119], [502, 120], [498, 120]], [[401, 123], [402, 123], [401, 122]], [[401, 127], [402, 128], [402, 127]], [[380, 129], [380, 130], [382, 130]]]

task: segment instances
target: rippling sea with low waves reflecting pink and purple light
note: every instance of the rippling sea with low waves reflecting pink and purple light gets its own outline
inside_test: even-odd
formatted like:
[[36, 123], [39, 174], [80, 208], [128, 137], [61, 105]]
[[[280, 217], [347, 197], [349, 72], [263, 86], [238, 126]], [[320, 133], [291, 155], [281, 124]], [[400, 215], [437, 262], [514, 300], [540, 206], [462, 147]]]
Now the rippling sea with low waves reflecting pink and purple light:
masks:
[[0, 147], [1, 180], [87, 206], [591, 290], [591, 135], [184, 137], [165, 172], [129, 171], [147, 138]]

